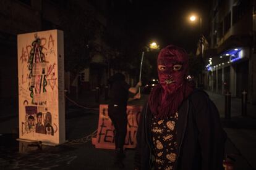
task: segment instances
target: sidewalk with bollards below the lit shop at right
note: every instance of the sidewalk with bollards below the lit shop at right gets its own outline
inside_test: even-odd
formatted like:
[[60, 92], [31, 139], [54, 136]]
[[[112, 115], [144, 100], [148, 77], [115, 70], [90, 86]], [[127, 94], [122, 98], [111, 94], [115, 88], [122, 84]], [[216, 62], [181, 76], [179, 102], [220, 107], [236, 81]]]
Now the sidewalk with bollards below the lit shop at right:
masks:
[[220, 112], [223, 127], [228, 138], [233, 144], [234, 148], [237, 148], [238, 152], [233, 153], [226, 146], [226, 152], [233, 155], [236, 159], [236, 166], [239, 164], [249, 165], [248, 168], [241, 167], [241, 169], [256, 169], [256, 119], [255, 110], [256, 105], [247, 105], [247, 115], [246, 117], [241, 116], [241, 99], [232, 98], [231, 99], [231, 119], [224, 119], [224, 95], [215, 94], [208, 92], [211, 100], [215, 103], [216, 107]]

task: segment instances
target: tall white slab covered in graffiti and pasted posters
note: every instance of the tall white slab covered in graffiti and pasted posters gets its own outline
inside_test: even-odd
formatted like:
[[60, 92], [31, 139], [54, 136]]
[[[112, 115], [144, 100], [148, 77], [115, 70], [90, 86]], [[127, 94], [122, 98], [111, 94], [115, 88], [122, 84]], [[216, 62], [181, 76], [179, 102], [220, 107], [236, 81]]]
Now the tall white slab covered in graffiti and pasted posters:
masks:
[[65, 142], [64, 39], [60, 30], [19, 34], [19, 139]]

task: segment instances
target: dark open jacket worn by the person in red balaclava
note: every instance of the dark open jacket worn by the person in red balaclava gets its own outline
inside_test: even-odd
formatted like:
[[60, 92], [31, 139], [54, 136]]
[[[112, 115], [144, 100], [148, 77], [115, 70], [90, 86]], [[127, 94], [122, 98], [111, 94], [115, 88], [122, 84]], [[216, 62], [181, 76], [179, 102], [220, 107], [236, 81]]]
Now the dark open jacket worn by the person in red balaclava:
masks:
[[[137, 169], [151, 169], [153, 144], [148, 104], [142, 110], [137, 132], [134, 165]], [[223, 169], [224, 144], [220, 116], [215, 104], [204, 91], [195, 90], [179, 107], [177, 121], [177, 159], [174, 170]]]

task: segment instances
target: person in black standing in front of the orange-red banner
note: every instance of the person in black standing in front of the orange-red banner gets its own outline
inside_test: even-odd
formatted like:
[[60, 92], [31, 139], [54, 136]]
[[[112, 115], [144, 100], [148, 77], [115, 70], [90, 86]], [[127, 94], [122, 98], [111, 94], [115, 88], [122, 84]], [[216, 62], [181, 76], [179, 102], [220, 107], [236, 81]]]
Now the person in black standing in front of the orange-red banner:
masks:
[[[122, 163], [122, 159], [124, 158], [124, 140], [127, 132], [127, 100], [129, 99], [129, 92], [136, 94], [142, 84], [139, 82], [135, 87], [130, 87], [126, 83], [125, 76], [122, 73], [116, 73], [111, 76], [108, 83], [110, 90], [108, 115], [115, 129], [116, 158], [114, 163], [122, 168], [124, 166]], [[140, 94], [137, 94], [133, 99], [139, 98]]]

